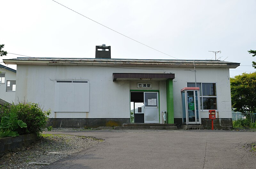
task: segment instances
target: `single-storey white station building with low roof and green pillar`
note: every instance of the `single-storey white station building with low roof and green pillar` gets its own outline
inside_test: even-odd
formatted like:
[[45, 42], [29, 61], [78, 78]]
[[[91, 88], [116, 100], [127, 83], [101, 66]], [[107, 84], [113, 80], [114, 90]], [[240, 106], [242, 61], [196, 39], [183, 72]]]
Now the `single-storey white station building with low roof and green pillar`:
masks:
[[[5, 64], [17, 65], [16, 101], [19, 98], [51, 109], [54, 127], [121, 125], [130, 123], [134, 110], [136, 123], [163, 123], [162, 111], [167, 111], [167, 123], [184, 124], [181, 89], [195, 87], [194, 62], [200, 94], [188, 100], [195, 107], [200, 105], [201, 111], [197, 115], [194, 111], [194, 118], [188, 115], [189, 120], [197, 116], [200, 123], [209, 126], [208, 110], [214, 109], [215, 125], [232, 127], [229, 68], [239, 63], [110, 58], [4, 60]], [[197, 103], [193, 101], [196, 98]], [[190, 108], [189, 113], [193, 111]]]

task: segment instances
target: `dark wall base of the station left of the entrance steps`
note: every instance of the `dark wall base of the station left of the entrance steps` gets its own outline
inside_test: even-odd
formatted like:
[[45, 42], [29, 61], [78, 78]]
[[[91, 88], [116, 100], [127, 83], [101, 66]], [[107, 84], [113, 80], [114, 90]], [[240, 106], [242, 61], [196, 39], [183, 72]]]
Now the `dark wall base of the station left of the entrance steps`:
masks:
[[130, 123], [130, 118], [49, 118], [49, 126], [63, 128], [97, 128], [121, 126]]

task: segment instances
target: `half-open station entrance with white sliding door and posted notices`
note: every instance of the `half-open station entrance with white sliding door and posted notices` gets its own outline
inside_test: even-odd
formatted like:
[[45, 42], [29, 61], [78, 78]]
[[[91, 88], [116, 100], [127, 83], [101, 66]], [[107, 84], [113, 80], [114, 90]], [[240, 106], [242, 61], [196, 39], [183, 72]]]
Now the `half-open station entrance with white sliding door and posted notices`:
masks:
[[131, 123], [159, 123], [158, 92], [131, 92]]

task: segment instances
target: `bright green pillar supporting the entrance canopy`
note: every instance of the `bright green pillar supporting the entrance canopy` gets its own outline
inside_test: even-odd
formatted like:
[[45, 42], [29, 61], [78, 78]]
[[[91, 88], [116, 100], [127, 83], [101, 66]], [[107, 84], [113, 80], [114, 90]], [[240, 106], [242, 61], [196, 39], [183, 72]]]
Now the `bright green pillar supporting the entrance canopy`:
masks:
[[167, 123], [174, 123], [172, 79], [166, 80], [166, 101], [167, 101]]

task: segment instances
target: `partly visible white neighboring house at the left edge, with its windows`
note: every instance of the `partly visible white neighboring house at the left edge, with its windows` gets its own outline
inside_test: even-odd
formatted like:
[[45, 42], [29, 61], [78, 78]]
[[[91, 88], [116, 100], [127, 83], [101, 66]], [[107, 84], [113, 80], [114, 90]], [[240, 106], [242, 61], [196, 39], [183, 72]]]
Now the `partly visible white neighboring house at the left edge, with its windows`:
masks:
[[15, 100], [16, 70], [0, 65], [0, 99], [12, 103]]

